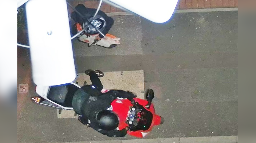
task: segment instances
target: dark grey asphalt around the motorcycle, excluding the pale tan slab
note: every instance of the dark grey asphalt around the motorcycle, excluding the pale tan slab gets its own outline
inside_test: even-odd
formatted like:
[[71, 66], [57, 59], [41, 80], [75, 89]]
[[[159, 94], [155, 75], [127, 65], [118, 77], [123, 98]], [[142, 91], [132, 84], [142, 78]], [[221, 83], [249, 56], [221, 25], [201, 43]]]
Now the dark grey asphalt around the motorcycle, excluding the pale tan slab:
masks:
[[[113, 18], [110, 33], [121, 38], [116, 48], [72, 41], [77, 72], [144, 70], [145, 89], [155, 91], [156, 112], [165, 117], [146, 138], [238, 135], [237, 11], [175, 13], [165, 24], [132, 15]], [[18, 58], [18, 84], [30, 72], [24, 51]], [[133, 138], [110, 138], [76, 118], [57, 119], [55, 109], [29, 101], [36, 95], [29, 84], [29, 95], [18, 101], [18, 142]]]

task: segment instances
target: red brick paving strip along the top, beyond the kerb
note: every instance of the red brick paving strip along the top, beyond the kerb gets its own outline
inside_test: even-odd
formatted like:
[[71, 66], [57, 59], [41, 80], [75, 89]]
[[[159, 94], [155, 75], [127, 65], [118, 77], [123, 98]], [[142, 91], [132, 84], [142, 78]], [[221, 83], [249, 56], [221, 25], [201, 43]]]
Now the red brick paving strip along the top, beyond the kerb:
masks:
[[[97, 8], [99, 1], [70, 1], [70, 4], [77, 6], [79, 3], [89, 8]], [[176, 9], [196, 9], [196, 8], [224, 8], [238, 7], [238, 0], [179, 0]], [[101, 10], [104, 12], [123, 12], [124, 10], [102, 3]]]

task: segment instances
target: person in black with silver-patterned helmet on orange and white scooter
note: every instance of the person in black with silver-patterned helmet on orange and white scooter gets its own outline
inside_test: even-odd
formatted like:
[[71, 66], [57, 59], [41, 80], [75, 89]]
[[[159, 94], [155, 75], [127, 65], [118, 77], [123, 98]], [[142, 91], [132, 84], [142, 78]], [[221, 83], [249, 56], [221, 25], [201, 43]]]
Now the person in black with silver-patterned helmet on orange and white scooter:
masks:
[[[85, 7], [83, 4], [78, 4], [75, 9], [81, 13], [85, 19], [91, 21], [92, 17], [94, 16], [95, 12], [97, 9], [94, 8], [88, 8]], [[79, 14], [77, 14], [75, 11], [71, 13], [70, 17], [75, 21], [78, 22], [80, 25], [83, 25], [83, 23], [87, 23], [87, 21], [85, 21]], [[114, 20], [111, 17], [108, 17], [108, 15], [106, 13], [104, 13], [103, 11], [99, 10], [98, 14], [96, 15], [96, 17], [94, 18], [97, 24], [94, 24], [95, 27], [99, 28], [99, 30], [102, 32], [102, 34], [106, 35], [108, 33], [108, 31], [110, 30], [110, 28], [112, 27]], [[104, 21], [103, 23], [98, 23], [99, 21]], [[102, 25], [101, 25], [102, 24]], [[91, 27], [89, 25], [89, 29], [85, 30], [88, 34], [95, 34], [96, 31], [95, 29], [93, 30], [93, 27]], [[74, 33], [74, 32], [72, 32]], [[103, 38], [104, 36], [99, 35], [96, 39], [100, 40], [101, 38]]]

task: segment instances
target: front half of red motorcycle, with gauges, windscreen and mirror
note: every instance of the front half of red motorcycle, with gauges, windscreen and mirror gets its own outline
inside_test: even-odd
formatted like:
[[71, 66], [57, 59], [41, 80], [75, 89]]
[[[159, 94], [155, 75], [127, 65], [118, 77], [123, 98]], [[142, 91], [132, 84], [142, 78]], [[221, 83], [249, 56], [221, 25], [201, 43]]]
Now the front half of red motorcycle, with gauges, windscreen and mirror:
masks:
[[118, 129], [129, 127], [127, 134], [136, 137], [147, 136], [153, 126], [163, 124], [164, 118], [155, 113], [152, 99], [154, 92], [148, 89], [146, 99], [134, 98], [135, 103], [128, 99], [117, 98], [111, 103], [111, 110], [119, 117]]

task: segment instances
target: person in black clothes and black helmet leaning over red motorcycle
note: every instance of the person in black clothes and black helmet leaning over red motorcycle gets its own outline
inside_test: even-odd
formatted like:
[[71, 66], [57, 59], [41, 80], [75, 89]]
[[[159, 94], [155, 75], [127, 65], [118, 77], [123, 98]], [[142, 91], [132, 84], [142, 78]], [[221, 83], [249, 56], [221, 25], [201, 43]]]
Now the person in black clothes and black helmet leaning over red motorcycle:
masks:
[[109, 108], [111, 102], [117, 97], [127, 98], [134, 103], [133, 98], [136, 96], [123, 90], [110, 90], [107, 93], [101, 93], [103, 85], [98, 77], [102, 77], [103, 73], [99, 70], [86, 70], [86, 74], [90, 76], [92, 84], [79, 88], [72, 100], [75, 112], [81, 115], [78, 120], [103, 135], [110, 137], [126, 136], [128, 127], [118, 130], [118, 115]]

